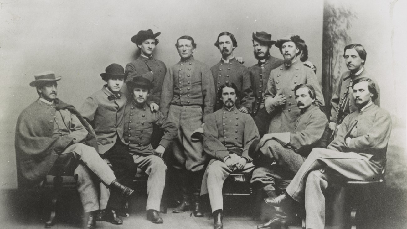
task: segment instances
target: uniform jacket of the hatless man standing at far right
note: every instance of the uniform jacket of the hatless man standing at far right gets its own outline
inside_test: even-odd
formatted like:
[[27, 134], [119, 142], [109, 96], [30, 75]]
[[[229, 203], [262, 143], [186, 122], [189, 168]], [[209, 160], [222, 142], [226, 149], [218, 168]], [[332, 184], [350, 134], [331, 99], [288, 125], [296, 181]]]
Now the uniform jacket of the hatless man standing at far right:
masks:
[[[342, 112], [344, 113], [344, 116], [354, 112], [357, 110], [357, 106], [354, 101], [353, 97], [353, 90], [352, 90], [352, 82], [355, 79], [359, 79], [361, 77], [368, 77], [369, 79], [372, 79], [374, 84], [376, 85], [376, 90], [377, 90], [377, 98], [374, 101], [374, 103], [377, 106], [380, 106], [380, 88], [379, 84], [377, 84], [376, 79], [372, 77], [369, 73], [366, 72], [366, 70], [363, 67], [363, 70], [361, 73], [356, 73], [357, 75], [353, 75], [350, 73], [350, 71], [345, 72], [342, 74], [341, 78], [338, 81], [338, 86], [337, 89], [335, 90], [335, 94], [332, 96], [332, 99], [330, 100], [331, 102], [331, 113], [330, 113], [330, 121], [331, 122], [336, 122], [337, 123], [337, 114], [339, 107], [341, 107], [342, 103], [344, 103], [344, 99], [348, 99], [348, 101], [344, 104]], [[340, 123], [338, 123], [340, 124]]]

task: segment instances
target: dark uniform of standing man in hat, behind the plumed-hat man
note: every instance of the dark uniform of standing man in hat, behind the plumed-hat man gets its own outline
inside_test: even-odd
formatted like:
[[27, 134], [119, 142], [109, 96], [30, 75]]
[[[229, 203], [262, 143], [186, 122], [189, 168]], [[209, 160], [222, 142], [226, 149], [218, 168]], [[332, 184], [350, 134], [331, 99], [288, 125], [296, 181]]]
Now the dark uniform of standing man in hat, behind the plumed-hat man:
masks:
[[269, 55], [265, 62], [259, 61], [258, 64], [249, 67], [254, 94], [252, 117], [258, 128], [260, 138], [267, 134], [271, 119], [271, 116], [264, 107], [263, 93], [267, 91], [267, 81], [269, 80], [271, 70], [283, 63], [284, 60]]

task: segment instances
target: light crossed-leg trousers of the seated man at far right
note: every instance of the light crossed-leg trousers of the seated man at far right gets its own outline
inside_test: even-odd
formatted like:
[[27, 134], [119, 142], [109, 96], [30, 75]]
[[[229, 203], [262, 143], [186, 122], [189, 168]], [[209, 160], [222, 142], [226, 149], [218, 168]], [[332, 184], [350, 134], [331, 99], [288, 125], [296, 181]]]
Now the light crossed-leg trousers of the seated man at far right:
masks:
[[380, 173], [381, 167], [363, 154], [314, 148], [286, 191], [294, 200], [304, 201], [306, 228], [324, 229], [324, 191], [328, 184], [338, 179], [372, 181]]

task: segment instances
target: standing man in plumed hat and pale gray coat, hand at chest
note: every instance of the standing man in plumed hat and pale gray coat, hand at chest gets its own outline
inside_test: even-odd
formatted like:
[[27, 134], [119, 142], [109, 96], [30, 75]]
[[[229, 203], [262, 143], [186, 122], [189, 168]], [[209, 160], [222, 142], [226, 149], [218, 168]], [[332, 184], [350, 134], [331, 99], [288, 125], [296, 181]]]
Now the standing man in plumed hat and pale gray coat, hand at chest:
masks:
[[301, 53], [308, 52], [304, 40], [298, 35], [290, 35], [278, 40], [275, 45], [284, 57], [284, 64], [271, 70], [267, 82], [265, 108], [272, 115], [268, 132], [293, 132], [295, 119], [300, 114], [294, 97], [295, 86], [311, 85], [317, 106], [324, 106], [324, 98], [315, 73], [300, 60]]

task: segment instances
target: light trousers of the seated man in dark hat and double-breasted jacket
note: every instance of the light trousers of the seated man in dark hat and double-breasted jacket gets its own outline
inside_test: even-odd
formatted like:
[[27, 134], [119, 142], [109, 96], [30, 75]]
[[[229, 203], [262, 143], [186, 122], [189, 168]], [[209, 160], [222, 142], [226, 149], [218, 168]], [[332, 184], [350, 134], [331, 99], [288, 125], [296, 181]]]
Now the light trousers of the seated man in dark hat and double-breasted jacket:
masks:
[[149, 175], [147, 180], [147, 206], [146, 210], [160, 211], [162, 193], [165, 187], [165, 174], [167, 166], [159, 156], [133, 154], [134, 163], [143, 172]]

